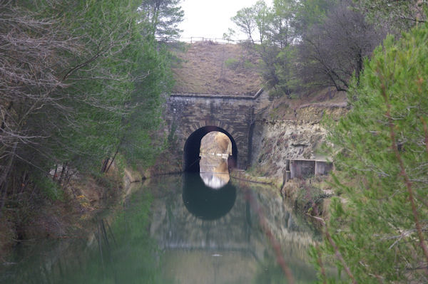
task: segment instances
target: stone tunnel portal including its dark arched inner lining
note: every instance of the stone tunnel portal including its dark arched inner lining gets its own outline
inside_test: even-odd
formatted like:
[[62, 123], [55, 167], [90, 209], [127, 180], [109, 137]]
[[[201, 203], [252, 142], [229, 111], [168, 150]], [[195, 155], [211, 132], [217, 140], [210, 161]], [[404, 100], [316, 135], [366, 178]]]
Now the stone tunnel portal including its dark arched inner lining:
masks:
[[223, 132], [232, 142], [231, 167], [246, 169], [250, 164], [255, 112], [262, 89], [253, 96], [173, 94], [166, 101], [165, 120], [183, 151], [183, 170], [199, 172], [200, 140], [211, 131]]

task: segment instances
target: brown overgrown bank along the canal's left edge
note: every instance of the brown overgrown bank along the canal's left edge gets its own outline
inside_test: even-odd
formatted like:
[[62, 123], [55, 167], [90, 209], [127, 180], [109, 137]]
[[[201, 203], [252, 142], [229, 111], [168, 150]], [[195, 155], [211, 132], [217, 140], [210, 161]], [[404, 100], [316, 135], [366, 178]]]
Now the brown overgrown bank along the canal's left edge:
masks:
[[113, 165], [106, 174], [76, 174], [56, 199], [37, 189], [18, 195], [16, 206], [9, 204], [1, 216], [0, 263], [8, 263], [9, 253], [21, 243], [89, 236], [96, 216], [121, 204], [137, 181], [138, 172]]

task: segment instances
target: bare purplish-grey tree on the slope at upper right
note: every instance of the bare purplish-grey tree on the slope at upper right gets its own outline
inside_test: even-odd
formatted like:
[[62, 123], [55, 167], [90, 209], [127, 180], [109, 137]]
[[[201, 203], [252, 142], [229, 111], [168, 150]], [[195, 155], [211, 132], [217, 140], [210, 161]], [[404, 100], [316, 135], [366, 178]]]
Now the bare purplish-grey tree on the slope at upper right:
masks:
[[350, 0], [339, 1], [302, 36], [300, 77], [305, 85], [347, 90], [352, 74], [358, 80], [364, 58], [384, 38], [384, 31], [367, 23], [351, 5]]

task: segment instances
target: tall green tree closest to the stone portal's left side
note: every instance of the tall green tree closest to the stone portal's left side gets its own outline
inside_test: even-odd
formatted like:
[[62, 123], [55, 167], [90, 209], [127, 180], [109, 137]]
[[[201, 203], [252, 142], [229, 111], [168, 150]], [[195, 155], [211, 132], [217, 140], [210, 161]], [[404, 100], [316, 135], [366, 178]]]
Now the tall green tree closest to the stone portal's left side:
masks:
[[124, 136], [120, 150], [133, 166], [148, 167], [161, 152], [163, 137], [156, 136], [161, 125], [161, 95], [170, 92], [173, 80], [170, 53], [165, 46], [157, 46], [149, 37], [141, 51], [137, 72], [145, 75], [131, 95], [131, 111], [122, 122]]

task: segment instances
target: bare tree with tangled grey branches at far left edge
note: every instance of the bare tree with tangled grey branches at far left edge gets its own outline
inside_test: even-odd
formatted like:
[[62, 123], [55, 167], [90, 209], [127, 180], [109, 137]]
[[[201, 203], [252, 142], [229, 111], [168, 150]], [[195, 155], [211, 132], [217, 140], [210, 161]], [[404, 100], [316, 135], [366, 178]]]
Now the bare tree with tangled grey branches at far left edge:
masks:
[[[41, 9], [50, 8], [43, 4]], [[68, 68], [68, 64], [59, 55], [78, 54], [82, 48], [76, 38], [67, 37], [66, 31], [58, 27], [58, 19], [42, 17], [40, 11], [30, 9], [9, 1], [0, 11], [0, 209], [6, 201], [11, 176], [27, 177], [26, 168], [18, 171], [17, 167], [27, 164], [41, 168], [40, 164], [34, 164], [33, 157], [43, 151], [39, 142], [50, 135], [33, 131], [30, 123], [36, 122], [35, 115], [43, 112], [44, 107], [67, 110], [55, 96], [67, 87], [58, 70]], [[32, 155], [26, 153], [30, 148], [33, 148]], [[44, 156], [50, 157], [50, 154]]]

